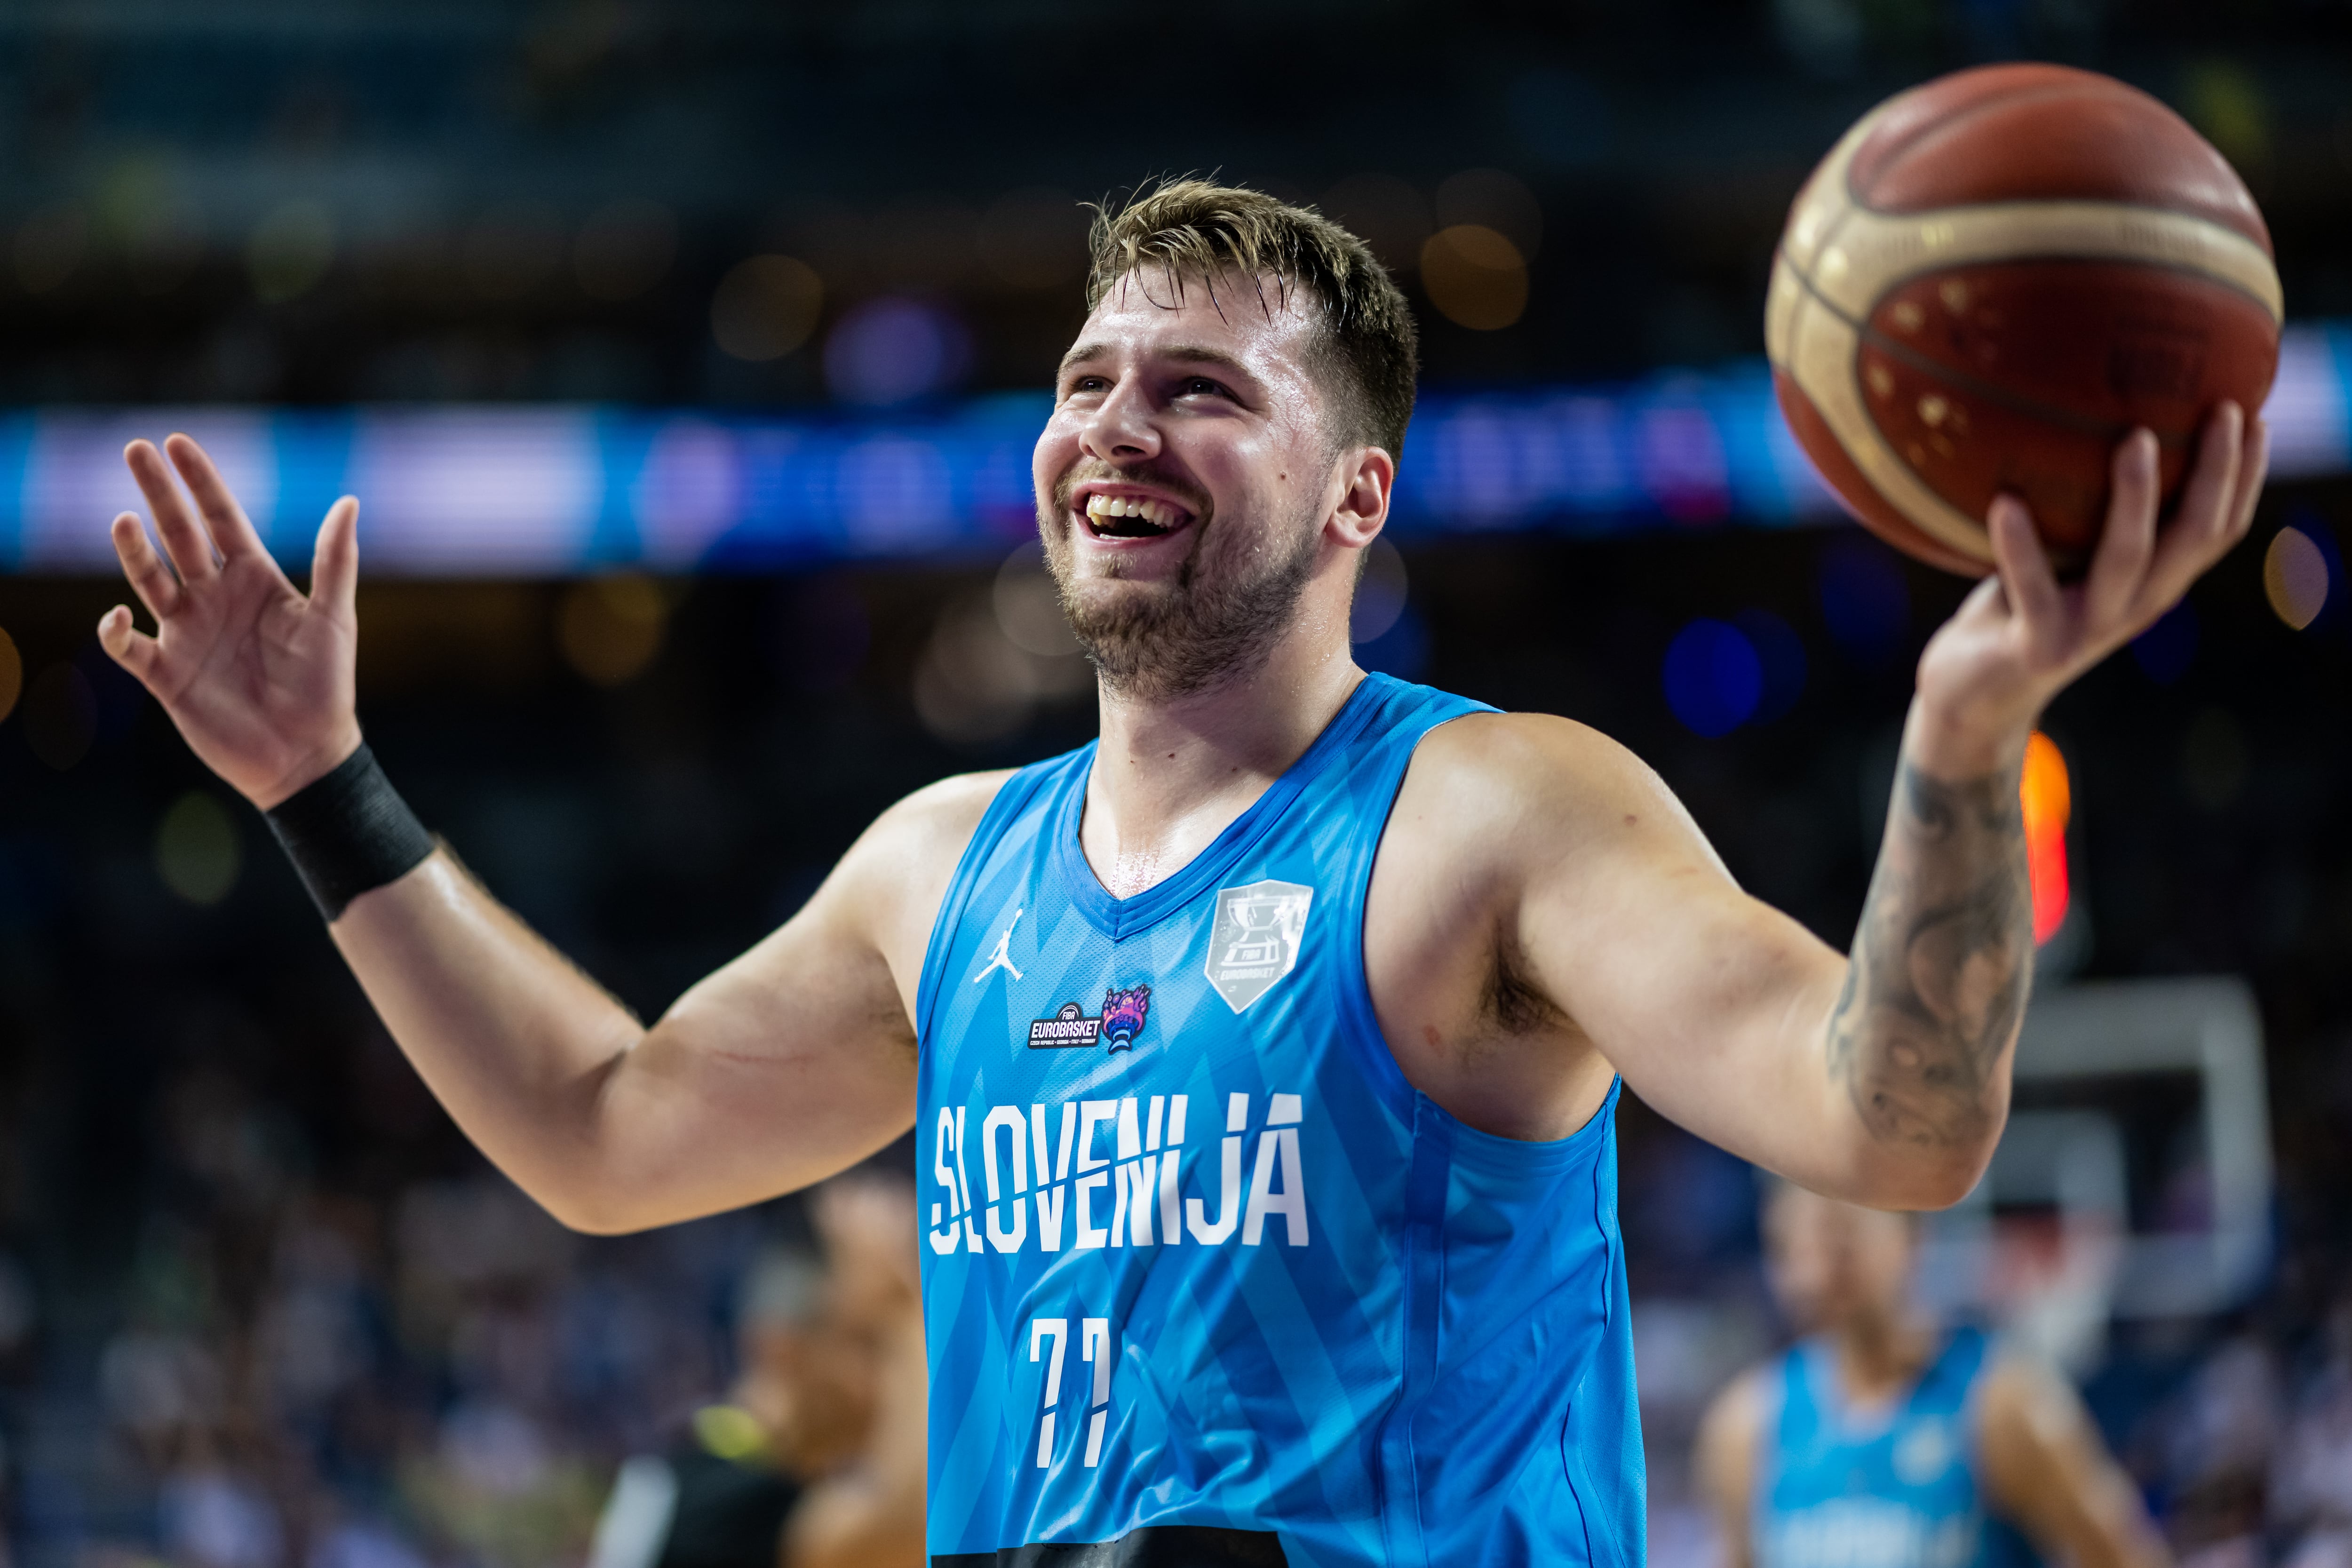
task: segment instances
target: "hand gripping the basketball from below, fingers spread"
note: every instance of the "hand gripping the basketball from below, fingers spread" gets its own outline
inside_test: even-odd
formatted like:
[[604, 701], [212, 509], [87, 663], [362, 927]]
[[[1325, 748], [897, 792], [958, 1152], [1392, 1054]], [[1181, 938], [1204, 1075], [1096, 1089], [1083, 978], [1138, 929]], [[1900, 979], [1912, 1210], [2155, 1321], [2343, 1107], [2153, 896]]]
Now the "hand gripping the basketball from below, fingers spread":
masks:
[[[2220, 404], [2171, 524], [2157, 531], [2157, 437], [2114, 449], [2107, 527], [2079, 583], [2060, 583], [2025, 503], [1992, 503], [1994, 576], [1976, 585], [1919, 656], [1917, 762], [1945, 778], [1997, 766], [2042, 708], [2084, 670], [2147, 630], [2246, 536], [2270, 465], [2270, 430]], [[1990, 750], [1987, 750], [1990, 748]]]

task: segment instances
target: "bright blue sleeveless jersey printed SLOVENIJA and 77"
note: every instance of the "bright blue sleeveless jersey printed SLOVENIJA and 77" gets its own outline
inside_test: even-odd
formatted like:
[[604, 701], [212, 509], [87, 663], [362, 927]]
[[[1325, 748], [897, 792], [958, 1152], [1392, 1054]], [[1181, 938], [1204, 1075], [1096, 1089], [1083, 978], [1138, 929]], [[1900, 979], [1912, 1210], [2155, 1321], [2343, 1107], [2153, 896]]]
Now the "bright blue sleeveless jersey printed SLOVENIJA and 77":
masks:
[[1642, 1563], [1616, 1088], [1472, 1131], [1364, 985], [1406, 762], [1477, 710], [1367, 677], [1134, 898], [1091, 745], [990, 804], [917, 994], [934, 1563]]

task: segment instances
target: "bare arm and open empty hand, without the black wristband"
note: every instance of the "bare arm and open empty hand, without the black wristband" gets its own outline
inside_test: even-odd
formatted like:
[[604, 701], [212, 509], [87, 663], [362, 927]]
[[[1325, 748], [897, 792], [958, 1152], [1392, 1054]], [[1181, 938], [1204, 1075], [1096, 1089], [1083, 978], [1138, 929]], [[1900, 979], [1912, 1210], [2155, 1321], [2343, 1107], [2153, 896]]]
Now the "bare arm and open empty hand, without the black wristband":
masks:
[[[99, 639], [188, 745], [263, 811], [360, 745], [358, 503], [318, 536], [310, 595], [261, 548], [183, 435], [125, 458], [139, 517], [115, 550], [153, 637], [115, 607]], [[915, 1117], [913, 983], [931, 910], [995, 780], [901, 802], [781, 931], [644, 1027], [445, 851], [329, 926], [426, 1084], [515, 1182], [581, 1229], [637, 1229], [840, 1171]]]

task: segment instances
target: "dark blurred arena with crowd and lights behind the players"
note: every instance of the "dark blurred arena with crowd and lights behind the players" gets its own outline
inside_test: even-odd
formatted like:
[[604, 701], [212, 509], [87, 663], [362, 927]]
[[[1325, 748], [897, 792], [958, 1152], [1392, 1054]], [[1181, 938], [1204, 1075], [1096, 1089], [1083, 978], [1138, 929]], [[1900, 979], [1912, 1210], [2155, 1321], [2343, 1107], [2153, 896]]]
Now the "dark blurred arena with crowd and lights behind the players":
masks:
[[[2340, 0], [5, 7], [7, 1552], [579, 1563], [619, 1458], [724, 1389], [746, 1262], [802, 1227], [786, 1199], [579, 1239], [466, 1147], [256, 816], [96, 649], [125, 435], [205, 435], [289, 559], [362, 494], [379, 755], [654, 1013], [884, 802], [1091, 733], [1018, 548], [1077, 202], [1185, 169], [1317, 200], [1425, 331], [1362, 658], [1623, 738], [1844, 945], [1962, 585], [1809, 482], [1764, 275], [1846, 122], [2016, 56], [2190, 115], [2293, 317], [2253, 538], [2046, 722], [2042, 985], [2241, 978], [2274, 1159], [2244, 1279], [2119, 1309], [2077, 1371], [2178, 1552], [2345, 1561]], [[2201, 1234], [2216, 1150], [2143, 1112], [2114, 1110], [2129, 1222]], [[1653, 1552], [1696, 1563], [1691, 1422], [1780, 1326], [1748, 1168], [1623, 1124]]]

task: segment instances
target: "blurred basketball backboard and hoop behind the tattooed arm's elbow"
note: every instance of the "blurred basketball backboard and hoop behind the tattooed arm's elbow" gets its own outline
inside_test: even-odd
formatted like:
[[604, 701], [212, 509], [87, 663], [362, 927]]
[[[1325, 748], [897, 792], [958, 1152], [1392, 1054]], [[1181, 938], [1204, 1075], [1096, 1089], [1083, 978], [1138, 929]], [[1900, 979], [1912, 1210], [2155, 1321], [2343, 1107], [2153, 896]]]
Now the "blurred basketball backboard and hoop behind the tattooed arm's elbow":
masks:
[[1933, 1215], [1924, 1302], [2086, 1368], [2112, 1319], [2234, 1307], [2270, 1262], [2263, 1025], [2244, 980], [2072, 985], [2032, 1004], [2009, 1131]]

